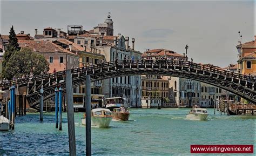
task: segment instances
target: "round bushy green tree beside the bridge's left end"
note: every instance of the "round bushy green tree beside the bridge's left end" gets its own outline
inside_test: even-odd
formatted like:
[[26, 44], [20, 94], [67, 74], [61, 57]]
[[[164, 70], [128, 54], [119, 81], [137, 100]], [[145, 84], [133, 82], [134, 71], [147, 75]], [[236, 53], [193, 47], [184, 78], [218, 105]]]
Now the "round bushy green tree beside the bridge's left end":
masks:
[[11, 55], [3, 75], [10, 80], [13, 77], [21, 78], [29, 76], [31, 73], [38, 75], [48, 71], [49, 63], [42, 55], [38, 55], [28, 48], [22, 48]]

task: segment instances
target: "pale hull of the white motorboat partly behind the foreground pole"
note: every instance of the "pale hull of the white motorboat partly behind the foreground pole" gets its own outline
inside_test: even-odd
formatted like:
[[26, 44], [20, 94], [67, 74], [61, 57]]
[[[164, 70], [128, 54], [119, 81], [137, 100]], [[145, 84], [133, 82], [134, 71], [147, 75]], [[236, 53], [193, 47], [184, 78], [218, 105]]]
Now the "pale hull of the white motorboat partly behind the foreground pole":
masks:
[[[112, 117], [91, 117], [91, 126], [99, 128], [107, 128], [110, 125]], [[85, 118], [82, 119], [82, 125], [86, 125]]]

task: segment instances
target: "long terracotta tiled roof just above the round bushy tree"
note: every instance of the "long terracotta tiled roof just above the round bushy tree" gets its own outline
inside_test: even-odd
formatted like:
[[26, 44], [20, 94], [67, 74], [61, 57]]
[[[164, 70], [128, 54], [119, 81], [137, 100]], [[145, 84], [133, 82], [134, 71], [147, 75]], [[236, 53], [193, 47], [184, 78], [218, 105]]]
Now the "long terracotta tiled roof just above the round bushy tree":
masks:
[[68, 51], [61, 46], [48, 41], [36, 41], [36, 40], [18, 40], [18, 44], [21, 47], [30, 48], [36, 52], [49, 52], [49, 53], [69, 53], [76, 55], [75, 53]]

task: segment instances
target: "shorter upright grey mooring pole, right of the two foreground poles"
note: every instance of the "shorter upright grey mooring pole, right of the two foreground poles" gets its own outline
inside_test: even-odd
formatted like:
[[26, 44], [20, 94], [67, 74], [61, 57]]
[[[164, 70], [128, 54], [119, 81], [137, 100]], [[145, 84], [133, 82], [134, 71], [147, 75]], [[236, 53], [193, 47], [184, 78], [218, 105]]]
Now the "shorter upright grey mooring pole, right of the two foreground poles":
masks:
[[86, 155], [91, 155], [91, 76], [86, 76], [85, 84], [85, 104], [86, 104]]

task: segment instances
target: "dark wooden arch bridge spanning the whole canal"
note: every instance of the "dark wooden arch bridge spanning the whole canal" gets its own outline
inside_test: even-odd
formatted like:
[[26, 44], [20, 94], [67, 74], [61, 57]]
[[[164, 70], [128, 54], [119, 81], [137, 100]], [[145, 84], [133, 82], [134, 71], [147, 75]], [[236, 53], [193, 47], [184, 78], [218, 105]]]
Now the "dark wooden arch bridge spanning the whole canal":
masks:
[[[227, 90], [256, 104], [255, 78], [243, 74], [219, 69], [189, 61], [178, 60], [116, 60], [101, 64], [71, 69], [73, 87], [85, 84], [86, 76], [91, 76], [91, 82], [98, 80], [132, 76], [132, 75], [162, 75], [197, 80], [221, 89]], [[26, 87], [27, 99], [31, 107], [36, 108], [44, 89], [44, 100], [55, 96], [55, 89], [65, 87], [65, 71], [42, 74], [39, 76], [2, 82], [0, 87], [7, 90], [10, 86]]]

